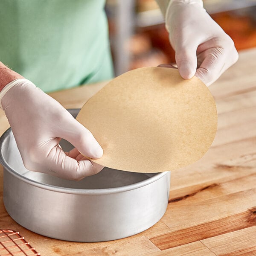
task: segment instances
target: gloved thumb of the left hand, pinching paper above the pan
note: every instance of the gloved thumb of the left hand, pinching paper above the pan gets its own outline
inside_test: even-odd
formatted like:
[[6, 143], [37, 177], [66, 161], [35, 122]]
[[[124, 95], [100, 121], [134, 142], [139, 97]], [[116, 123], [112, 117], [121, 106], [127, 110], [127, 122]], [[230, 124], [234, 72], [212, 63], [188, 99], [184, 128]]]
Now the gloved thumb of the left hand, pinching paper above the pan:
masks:
[[102, 147], [93, 134], [72, 116], [64, 120], [64, 125], [57, 132], [59, 137], [69, 141], [81, 154], [90, 158], [102, 157]]

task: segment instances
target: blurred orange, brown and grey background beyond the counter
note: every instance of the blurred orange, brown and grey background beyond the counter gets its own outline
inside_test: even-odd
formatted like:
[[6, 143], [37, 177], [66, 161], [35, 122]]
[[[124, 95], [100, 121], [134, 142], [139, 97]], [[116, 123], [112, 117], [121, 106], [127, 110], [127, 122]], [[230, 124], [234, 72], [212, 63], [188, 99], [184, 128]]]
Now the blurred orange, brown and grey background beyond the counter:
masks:
[[[204, 0], [204, 8], [230, 35], [236, 49], [256, 47], [256, 0]], [[175, 62], [155, 0], [107, 0], [105, 9], [116, 76]]]

